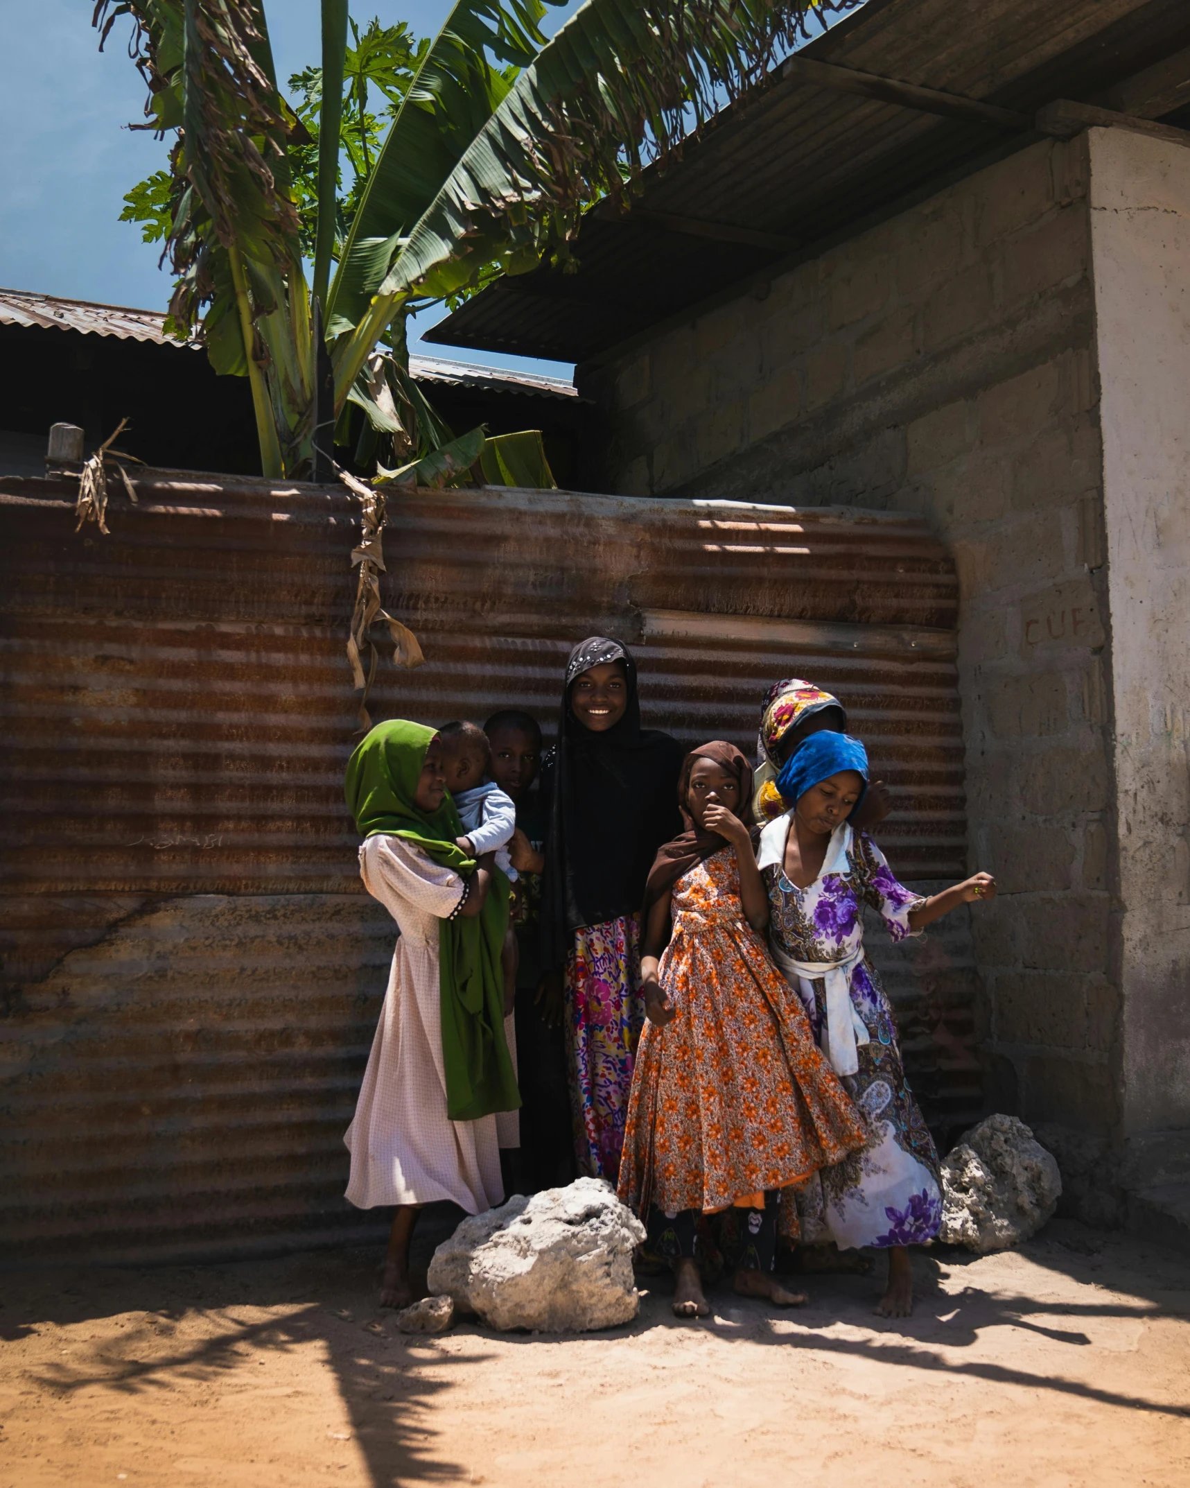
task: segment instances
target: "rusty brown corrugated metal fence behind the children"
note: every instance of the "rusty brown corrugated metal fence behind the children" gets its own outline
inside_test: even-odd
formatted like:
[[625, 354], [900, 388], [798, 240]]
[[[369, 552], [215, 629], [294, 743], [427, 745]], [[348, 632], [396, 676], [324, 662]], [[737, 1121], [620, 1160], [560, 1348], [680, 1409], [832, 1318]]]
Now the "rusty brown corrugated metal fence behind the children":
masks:
[[[25, 1253], [156, 1254], [358, 1232], [350, 1119], [391, 955], [342, 766], [357, 512], [339, 488], [149, 472], [110, 536], [73, 482], [0, 482], [0, 1232]], [[903, 876], [964, 866], [956, 585], [884, 513], [524, 491], [393, 498], [385, 600], [427, 665], [373, 717], [553, 732], [561, 665], [634, 643], [647, 722], [751, 748], [802, 674], [846, 702], [901, 809]], [[977, 1100], [973, 966], [892, 972], [940, 1120]]]

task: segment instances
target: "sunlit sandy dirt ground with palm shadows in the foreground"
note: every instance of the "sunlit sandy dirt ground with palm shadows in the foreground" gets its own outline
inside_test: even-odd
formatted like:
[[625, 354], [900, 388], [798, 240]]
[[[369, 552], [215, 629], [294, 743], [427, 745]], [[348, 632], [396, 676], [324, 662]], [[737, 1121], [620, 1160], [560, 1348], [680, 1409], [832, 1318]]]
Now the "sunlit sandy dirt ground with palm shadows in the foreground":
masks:
[[907, 1321], [811, 1277], [678, 1323], [662, 1280], [608, 1333], [412, 1341], [378, 1259], [7, 1275], [0, 1488], [1190, 1484], [1190, 1262], [1072, 1223], [919, 1253]]

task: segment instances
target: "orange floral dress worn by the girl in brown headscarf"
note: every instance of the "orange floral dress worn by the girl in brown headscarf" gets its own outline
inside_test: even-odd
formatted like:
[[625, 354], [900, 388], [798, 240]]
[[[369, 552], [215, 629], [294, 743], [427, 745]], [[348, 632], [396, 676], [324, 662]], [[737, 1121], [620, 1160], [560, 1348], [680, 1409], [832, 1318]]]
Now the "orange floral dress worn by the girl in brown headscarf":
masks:
[[646, 1024], [620, 1198], [647, 1217], [763, 1205], [867, 1140], [802, 1004], [744, 918], [735, 848], [672, 887], [660, 984], [677, 1018]]

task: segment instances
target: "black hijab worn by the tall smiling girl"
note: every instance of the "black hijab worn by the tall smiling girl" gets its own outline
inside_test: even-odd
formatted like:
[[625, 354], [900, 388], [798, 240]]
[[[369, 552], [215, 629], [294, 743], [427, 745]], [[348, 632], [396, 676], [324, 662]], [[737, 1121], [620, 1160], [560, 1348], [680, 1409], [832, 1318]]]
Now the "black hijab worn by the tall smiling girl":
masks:
[[[628, 683], [623, 717], [596, 734], [570, 707], [574, 680], [619, 661]], [[565, 964], [573, 931], [635, 914], [662, 842], [680, 823], [674, 789], [681, 768], [677, 740], [641, 728], [637, 664], [626, 646], [592, 635], [567, 662], [562, 717], [550, 792], [546, 873], [541, 885], [543, 970]]]

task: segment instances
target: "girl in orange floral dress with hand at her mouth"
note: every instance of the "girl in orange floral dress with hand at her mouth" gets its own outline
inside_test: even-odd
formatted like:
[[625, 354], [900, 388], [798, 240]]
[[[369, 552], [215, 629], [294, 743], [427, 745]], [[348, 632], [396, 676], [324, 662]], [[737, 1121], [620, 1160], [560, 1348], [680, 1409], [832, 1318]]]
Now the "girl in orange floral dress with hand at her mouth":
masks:
[[778, 1193], [867, 1140], [765, 948], [768, 893], [738, 815], [751, 783], [732, 744], [693, 750], [678, 781], [687, 830], [660, 850], [646, 888], [647, 1024], [619, 1193], [646, 1223], [653, 1205], [669, 1222], [678, 1317], [710, 1311], [695, 1262], [698, 1216], [732, 1207], [748, 1211], [735, 1290], [805, 1302], [772, 1277]]

